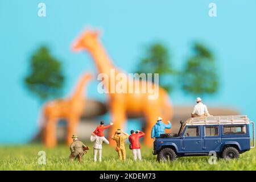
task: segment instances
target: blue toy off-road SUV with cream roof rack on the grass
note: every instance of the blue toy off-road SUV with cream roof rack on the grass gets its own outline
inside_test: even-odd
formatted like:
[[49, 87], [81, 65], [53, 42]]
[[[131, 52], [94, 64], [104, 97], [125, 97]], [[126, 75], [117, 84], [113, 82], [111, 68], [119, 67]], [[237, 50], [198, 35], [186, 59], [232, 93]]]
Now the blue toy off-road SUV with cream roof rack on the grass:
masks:
[[[218, 158], [239, 158], [255, 147], [254, 122], [246, 115], [189, 118], [180, 122], [178, 134], [163, 134], [154, 141], [158, 160], [173, 161], [181, 156], [203, 156], [214, 152]], [[249, 125], [253, 125], [253, 146], [250, 146]]]

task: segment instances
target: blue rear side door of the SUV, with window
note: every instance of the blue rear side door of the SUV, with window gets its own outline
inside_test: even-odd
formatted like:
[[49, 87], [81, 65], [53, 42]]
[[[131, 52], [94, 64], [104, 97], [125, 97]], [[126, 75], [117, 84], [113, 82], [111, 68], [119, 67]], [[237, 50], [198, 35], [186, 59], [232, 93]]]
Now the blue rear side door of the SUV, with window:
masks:
[[204, 126], [204, 150], [219, 151], [221, 147], [220, 127]]

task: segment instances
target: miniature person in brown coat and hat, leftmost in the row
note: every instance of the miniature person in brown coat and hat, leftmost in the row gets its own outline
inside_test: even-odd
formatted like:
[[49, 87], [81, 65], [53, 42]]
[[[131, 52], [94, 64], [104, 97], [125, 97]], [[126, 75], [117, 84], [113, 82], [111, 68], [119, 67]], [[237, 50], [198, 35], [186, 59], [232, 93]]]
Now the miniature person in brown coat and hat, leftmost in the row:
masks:
[[86, 154], [86, 150], [89, 150], [89, 147], [86, 147], [84, 143], [78, 140], [76, 135], [73, 135], [73, 142], [70, 145], [71, 154], [69, 155], [69, 159], [72, 161], [74, 159], [79, 159], [79, 163], [81, 164], [81, 158], [84, 154]]

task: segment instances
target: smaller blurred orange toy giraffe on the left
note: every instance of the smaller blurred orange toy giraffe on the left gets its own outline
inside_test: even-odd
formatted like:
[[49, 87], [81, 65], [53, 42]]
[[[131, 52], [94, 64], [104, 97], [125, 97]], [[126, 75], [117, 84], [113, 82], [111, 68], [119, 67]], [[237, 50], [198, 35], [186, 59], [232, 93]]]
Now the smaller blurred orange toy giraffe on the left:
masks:
[[64, 100], [49, 101], [43, 107], [44, 132], [43, 142], [48, 147], [54, 147], [57, 144], [56, 126], [59, 119], [67, 120], [67, 138], [66, 143], [72, 143], [72, 135], [76, 133], [76, 127], [84, 111], [84, 87], [92, 79], [92, 74], [85, 73], [75, 87], [72, 96]]

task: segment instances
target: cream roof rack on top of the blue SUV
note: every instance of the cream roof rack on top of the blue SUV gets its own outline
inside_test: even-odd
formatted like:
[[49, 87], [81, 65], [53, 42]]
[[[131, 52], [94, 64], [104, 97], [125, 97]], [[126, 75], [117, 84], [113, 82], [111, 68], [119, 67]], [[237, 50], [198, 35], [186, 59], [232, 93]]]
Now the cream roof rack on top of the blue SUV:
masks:
[[220, 115], [200, 118], [189, 118], [186, 125], [232, 125], [249, 124], [247, 115]]

